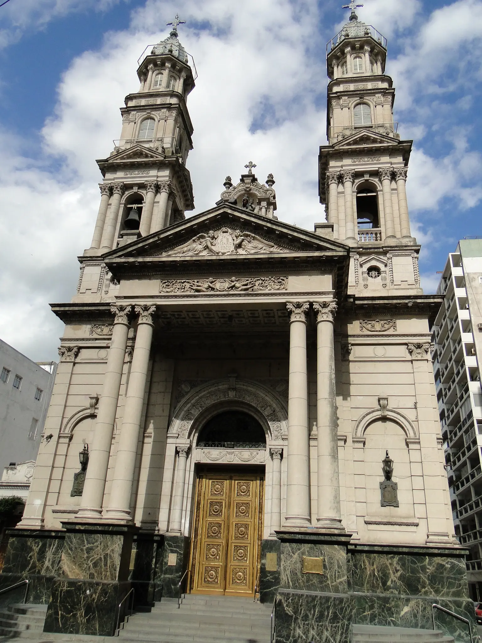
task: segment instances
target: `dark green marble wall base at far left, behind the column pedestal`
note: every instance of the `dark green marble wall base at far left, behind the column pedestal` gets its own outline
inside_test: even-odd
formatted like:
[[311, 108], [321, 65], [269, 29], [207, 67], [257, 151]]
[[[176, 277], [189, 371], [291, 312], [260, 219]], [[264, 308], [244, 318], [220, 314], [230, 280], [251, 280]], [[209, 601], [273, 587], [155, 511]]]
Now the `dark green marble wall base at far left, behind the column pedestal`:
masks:
[[[57, 575], [64, 532], [47, 529], [8, 529], [8, 545], [0, 574], [0, 589], [28, 579], [27, 602], [46, 604]], [[22, 602], [25, 587], [0, 595], [0, 606]]]

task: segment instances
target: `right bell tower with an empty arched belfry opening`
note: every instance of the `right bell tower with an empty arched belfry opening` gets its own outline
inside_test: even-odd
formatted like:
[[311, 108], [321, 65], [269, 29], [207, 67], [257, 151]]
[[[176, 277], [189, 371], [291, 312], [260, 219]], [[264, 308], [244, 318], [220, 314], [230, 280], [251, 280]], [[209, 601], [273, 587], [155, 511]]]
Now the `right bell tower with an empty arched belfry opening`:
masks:
[[328, 145], [319, 151], [319, 197], [334, 239], [352, 246], [350, 289], [413, 291], [420, 246], [405, 186], [412, 141], [400, 140], [393, 120], [387, 40], [359, 21], [361, 6], [344, 6], [350, 18], [326, 45]]

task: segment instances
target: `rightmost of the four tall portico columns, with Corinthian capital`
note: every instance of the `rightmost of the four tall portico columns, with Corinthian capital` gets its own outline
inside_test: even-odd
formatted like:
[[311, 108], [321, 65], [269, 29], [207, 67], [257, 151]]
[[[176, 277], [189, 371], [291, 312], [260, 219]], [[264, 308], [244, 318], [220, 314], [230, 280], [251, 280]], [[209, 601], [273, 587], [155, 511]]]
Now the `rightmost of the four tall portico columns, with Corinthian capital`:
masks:
[[317, 432], [318, 515], [317, 526], [344, 530], [341, 526], [338, 471], [338, 422], [335, 397], [335, 350], [333, 323], [335, 302], [313, 304], [317, 336]]

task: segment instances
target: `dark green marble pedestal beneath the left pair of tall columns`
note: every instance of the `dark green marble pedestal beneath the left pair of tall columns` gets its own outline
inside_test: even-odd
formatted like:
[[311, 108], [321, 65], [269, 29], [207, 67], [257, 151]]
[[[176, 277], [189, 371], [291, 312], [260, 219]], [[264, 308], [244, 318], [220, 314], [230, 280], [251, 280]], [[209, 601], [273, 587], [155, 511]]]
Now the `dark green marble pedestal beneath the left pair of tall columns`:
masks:
[[130, 590], [132, 541], [138, 529], [73, 522], [62, 527], [64, 548], [51, 584], [44, 631], [111, 636], [118, 605]]

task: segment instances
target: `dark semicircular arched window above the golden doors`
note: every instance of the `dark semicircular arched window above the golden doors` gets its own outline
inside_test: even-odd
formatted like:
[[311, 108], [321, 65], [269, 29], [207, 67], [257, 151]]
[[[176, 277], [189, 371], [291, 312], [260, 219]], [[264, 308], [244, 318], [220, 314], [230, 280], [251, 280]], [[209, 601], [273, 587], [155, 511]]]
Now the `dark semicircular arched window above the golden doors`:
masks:
[[253, 415], [231, 410], [211, 417], [199, 431], [199, 448], [211, 449], [265, 449], [266, 435]]

